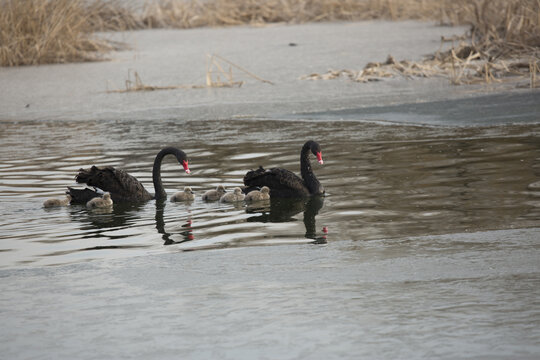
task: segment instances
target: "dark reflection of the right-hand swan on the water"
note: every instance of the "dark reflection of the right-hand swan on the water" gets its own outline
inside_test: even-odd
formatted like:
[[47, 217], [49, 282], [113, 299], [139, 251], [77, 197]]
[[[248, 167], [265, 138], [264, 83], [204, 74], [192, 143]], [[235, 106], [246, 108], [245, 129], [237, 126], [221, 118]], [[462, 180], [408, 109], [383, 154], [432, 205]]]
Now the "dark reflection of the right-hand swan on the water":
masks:
[[246, 212], [252, 214], [260, 214], [251, 216], [247, 219], [248, 222], [289, 222], [296, 221], [294, 216], [300, 212], [304, 212], [304, 226], [306, 227], [306, 239], [313, 239], [313, 244], [325, 244], [327, 227], [323, 227], [323, 235], [317, 235], [315, 216], [323, 207], [323, 196], [312, 196], [310, 198], [289, 198], [289, 199], [272, 199], [266, 203], [265, 207], [257, 207], [253, 204], [246, 209]]

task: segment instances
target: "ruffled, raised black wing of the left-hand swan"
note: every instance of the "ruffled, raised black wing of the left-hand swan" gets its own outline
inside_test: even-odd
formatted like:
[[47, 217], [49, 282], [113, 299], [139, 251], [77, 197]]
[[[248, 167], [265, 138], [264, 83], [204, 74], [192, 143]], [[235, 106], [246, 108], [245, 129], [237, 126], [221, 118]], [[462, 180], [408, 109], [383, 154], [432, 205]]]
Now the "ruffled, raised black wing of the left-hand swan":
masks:
[[75, 181], [108, 191], [114, 202], [146, 201], [153, 198], [134, 176], [111, 166], [80, 169]]

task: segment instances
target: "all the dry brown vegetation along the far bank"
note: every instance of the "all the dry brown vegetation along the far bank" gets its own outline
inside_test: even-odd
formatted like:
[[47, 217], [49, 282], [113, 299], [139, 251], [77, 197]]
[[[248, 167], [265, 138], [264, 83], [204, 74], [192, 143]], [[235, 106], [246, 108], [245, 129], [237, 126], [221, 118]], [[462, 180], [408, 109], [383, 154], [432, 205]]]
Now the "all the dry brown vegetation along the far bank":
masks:
[[359, 71], [310, 78], [444, 75], [454, 83], [471, 83], [526, 74], [534, 86], [539, 67], [540, 0], [156, 0], [140, 9], [121, 4], [0, 0], [0, 65], [94, 60], [115, 46], [91, 35], [104, 30], [419, 19], [468, 24], [471, 30], [454, 40], [451, 50], [423, 62], [371, 63]]

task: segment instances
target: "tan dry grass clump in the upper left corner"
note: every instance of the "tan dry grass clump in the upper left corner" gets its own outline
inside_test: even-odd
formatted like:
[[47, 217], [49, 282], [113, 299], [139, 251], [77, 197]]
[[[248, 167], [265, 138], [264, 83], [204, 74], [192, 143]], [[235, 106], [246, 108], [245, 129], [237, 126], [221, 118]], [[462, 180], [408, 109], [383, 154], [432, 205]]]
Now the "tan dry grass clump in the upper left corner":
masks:
[[0, 65], [95, 60], [113, 45], [91, 36], [77, 0], [0, 0]]

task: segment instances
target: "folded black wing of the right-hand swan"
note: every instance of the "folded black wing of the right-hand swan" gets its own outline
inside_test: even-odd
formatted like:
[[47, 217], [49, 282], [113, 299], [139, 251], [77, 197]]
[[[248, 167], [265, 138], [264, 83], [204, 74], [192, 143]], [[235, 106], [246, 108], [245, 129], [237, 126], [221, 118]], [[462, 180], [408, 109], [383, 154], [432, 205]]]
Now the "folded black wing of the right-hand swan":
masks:
[[304, 181], [293, 172], [281, 169], [262, 167], [257, 170], [248, 171], [244, 176], [244, 185], [249, 187], [270, 188], [270, 197], [273, 198], [291, 198], [309, 196], [309, 190], [304, 185]]

